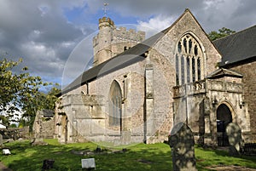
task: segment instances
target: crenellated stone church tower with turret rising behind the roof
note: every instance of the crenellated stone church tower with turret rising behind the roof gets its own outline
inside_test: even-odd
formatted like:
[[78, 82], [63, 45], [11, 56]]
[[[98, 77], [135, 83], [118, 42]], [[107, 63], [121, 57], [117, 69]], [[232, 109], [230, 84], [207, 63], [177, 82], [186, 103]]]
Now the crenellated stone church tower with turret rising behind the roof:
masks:
[[99, 32], [96, 37], [93, 37], [93, 66], [121, 54], [126, 49], [143, 42], [144, 39], [144, 31], [135, 31], [134, 29], [126, 31], [125, 27], [116, 28], [113, 20], [106, 16], [102, 17], [99, 19]]

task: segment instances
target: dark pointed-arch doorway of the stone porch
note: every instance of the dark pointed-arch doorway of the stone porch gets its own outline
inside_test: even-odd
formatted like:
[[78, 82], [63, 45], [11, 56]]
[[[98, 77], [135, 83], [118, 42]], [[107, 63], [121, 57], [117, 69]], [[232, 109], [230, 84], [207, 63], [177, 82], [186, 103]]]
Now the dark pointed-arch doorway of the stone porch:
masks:
[[219, 146], [229, 145], [228, 136], [226, 134], [226, 127], [229, 123], [232, 123], [230, 108], [227, 105], [221, 104], [217, 109], [217, 134]]

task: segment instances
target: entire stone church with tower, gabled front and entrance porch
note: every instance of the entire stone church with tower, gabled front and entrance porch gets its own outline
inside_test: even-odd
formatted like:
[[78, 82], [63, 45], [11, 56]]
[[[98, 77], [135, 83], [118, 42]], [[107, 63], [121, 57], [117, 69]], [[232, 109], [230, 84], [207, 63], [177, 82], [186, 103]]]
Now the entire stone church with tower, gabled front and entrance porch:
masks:
[[256, 26], [212, 43], [186, 9], [144, 39], [99, 20], [94, 66], [58, 94], [60, 142], [163, 142], [180, 122], [200, 144], [225, 145], [228, 123], [245, 142], [256, 140]]

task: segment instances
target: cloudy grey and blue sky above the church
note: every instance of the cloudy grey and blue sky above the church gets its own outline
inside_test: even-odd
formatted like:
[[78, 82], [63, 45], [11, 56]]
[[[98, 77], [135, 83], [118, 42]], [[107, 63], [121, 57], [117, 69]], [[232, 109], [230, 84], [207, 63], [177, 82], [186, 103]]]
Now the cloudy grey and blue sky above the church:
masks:
[[187, 8], [206, 32], [256, 24], [255, 0], [0, 0], [0, 58], [22, 57], [44, 81], [61, 83], [63, 73], [75, 77], [92, 57], [103, 3], [116, 25], [145, 31], [165, 29]]

